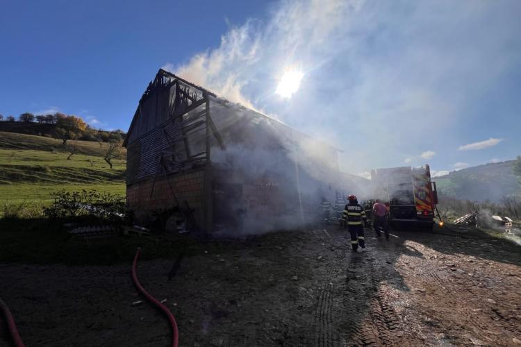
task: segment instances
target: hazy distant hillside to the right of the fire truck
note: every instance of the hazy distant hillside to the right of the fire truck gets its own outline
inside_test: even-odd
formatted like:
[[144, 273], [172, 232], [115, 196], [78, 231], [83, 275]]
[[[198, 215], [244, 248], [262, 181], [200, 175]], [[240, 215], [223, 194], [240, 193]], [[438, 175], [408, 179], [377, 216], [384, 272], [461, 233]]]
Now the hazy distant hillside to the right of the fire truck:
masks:
[[513, 160], [469, 167], [434, 178], [438, 191], [472, 201], [499, 202], [504, 196], [521, 196], [521, 185], [512, 169]]

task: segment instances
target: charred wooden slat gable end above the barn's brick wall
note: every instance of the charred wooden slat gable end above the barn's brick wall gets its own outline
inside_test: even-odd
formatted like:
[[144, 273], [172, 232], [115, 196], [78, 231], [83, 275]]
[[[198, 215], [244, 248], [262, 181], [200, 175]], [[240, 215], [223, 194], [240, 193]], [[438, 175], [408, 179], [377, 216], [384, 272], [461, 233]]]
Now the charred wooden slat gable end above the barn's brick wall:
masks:
[[203, 91], [158, 74], [140, 100], [133, 131], [126, 143], [127, 184], [158, 174], [161, 158], [169, 173], [204, 162], [209, 133], [207, 112], [208, 98]]

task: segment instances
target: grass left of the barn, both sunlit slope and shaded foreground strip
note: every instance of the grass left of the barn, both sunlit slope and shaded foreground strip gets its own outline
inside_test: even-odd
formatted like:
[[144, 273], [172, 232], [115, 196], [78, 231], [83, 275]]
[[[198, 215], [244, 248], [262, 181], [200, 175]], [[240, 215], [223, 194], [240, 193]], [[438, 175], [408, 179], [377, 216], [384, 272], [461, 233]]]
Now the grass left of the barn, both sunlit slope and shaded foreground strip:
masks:
[[131, 260], [138, 246], [143, 259], [188, 250], [187, 244], [172, 246], [152, 237], [85, 241], [70, 235], [65, 223], [96, 225], [96, 217], [44, 217], [42, 207], [50, 205], [52, 192], [62, 189], [125, 194], [125, 149], [110, 169], [97, 142], [70, 145], [78, 154], [67, 160], [69, 153], [59, 140], [0, 132], [0, 262], [114, 264]]

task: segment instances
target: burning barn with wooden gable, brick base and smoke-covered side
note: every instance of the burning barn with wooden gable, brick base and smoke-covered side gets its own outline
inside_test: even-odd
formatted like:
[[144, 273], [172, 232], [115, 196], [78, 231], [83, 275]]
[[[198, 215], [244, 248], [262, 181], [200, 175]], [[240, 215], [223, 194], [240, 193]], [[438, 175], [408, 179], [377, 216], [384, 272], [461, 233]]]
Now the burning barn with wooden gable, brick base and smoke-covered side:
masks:
[[292, 228], [352, 188], [338, 149], [163, 69], [124, 146], [127, 205], [141, 223], [166, 215], [206, 232]]

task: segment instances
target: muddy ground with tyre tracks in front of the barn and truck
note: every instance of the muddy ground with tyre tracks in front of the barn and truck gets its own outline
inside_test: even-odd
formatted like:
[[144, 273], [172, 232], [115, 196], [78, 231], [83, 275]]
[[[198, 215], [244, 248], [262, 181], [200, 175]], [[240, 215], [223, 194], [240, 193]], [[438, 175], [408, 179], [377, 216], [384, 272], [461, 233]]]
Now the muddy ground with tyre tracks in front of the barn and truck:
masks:
[[[465, 231], [366, 233], [362, 253], [336, 227], [201, 242], [173, 278], [173, 259], [139, 262], [138, 277], [167, 299], [180, 346], [521, 344], [520, 246]], [[130, 269], [1, 264], [0, 296], [26, 346], [168, 346], [167, 320]]]

